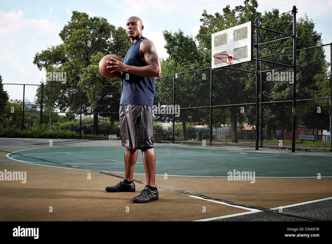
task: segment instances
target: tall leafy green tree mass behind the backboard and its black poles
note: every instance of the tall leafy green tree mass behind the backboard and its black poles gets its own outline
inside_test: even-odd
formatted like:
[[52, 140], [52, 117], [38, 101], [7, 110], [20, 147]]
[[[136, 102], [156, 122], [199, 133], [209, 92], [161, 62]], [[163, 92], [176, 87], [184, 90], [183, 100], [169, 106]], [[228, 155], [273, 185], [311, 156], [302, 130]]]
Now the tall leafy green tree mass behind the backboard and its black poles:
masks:
[[[215, 13], [209, 15], [204, 10], [201, 19], [202, 25], [196, 39], [199, 41], [201, 48], [205, 50], [208, 55], [211, 55], [211, 34], [243, 24], [248, 21], [254, 21], [256, 17], [261, 21], [260, 26], [263, 28], [276, 30], [284, 33], [292, 33], [292, 15], [281, 13], [278, 9], [272, 12], [265, 12], [264, 14], [257, 12], [257, 1], [246, 0], [244, 5], [236, 6], [230, 9], [229, 6], [223, 8], [223, 14]], [[268, 20], [269, 19], [269, 20]], [[268, 31], [259, 30], [260, 41], [266, 41], [275, 38], [277, 34]], [[309, 20], [307, 16], [297, 20], [297, 49], [315, 46], [317, 41], [321, 40], [321, 35], [314, 30], [314, 23]], [[273, 53], [281, 53], [291, 51], [291, 38], [270, 42], [260, 45], [260, 56], [269, 55]], [[255, 57], [254, 52], [254, 57]], [[315, 50], [297, 52], [297, 77], [296, 77], [296, 99], [312, 98], [314, 91], [319, 88], [315, 85], [314, 76], [323, 72], [325, 63], [324, 51], [322, 48], [315, 48]], [[265, 58], [269, 61], [279, 63], [292, 64], [292, 54], [277, 55]], [[210, 64], [210, 59], [207, 59]], [[263, 63], [263, 69], [272, 68], [268, 63]], [[239, 68], [243, 70], [255, 71], [255, 62], [247, 62], [242, 64], [232, 65], [232, 68]], [[289, 72], [291, 69], [279, 70]], [[263, 74], [263, 102], [291, 100], [292, 85], [286, 80], [266, 81], [266, 73]], [[226, 104], [245, 104], [254, 103], [255, 98], [255, 76], [243, 72], [226, 70], [223, 68], [213, 71], [213, 105]], [[227, 94], [227, 95], [226, 95]], [[285, 109], [287, 108], [287, 109]], [[249, 124], [255, 125], [256, 118], [251, 116], [249, 111], [252, 108], [246, 108], [243, 116], [238, 117], [238, 106], [230, 106], [230, 123], [232, 132], [232, 141], [237, 142], [237, 123], [247, 121]], [[305, 106], [298, 104], [297, 114], [304, 113]], [[270, 115], [270, 117], [269, 117]], [[264, 118], [267, 116], [268, 118]], [[237, 117], [240, 121], [237, 121]], [[291, 127], [291, 107], [281, 106], [280, 104], [264, 105], [264, 121], [263, 127], [267, 127], [268, 138], [276, 136], [276, 130], [279, 128]], [[303, 120], [298, 116], [296, 124], [303, 123]], [[214, 122], [213, 122], [214, 123]], [[271, 131], [273, 133], [271, 133]]]

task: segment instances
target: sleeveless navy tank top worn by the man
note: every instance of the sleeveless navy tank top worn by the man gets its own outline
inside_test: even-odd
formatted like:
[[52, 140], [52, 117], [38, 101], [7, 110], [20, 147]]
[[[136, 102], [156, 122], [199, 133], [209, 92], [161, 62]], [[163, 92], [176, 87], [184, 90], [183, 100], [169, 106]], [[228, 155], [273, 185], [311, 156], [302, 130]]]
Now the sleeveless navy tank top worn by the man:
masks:
[[[141, 37], [131, 45], [124, 57], [124, 64], [132, 66], [146, 66], [139, 56], [139, 45], [143, 40]], [[141, 77], [128, 72], [123, 72], [121, 83], [120, 105], [138, 104], [153, 106], [155, 77]]]

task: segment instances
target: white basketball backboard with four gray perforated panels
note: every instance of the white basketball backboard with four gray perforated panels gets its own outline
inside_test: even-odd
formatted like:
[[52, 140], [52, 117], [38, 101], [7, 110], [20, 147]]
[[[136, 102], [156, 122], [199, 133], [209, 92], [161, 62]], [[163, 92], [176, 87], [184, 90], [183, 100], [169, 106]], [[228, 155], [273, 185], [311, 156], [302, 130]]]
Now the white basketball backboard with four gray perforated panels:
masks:
[[213, 57], [214, 54], [228, 54], [232, 57], [232, 64], [253, 60], [252, 21], [213, 33], [211, 36], [212, 69], [230, 65]]

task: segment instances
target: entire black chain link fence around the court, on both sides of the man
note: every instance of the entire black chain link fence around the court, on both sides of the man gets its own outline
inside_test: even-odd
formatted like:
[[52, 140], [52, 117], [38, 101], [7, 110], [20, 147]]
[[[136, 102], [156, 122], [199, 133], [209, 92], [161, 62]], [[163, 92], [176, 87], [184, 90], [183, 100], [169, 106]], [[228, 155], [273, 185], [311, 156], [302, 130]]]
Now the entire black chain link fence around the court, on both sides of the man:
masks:
[[[331, 49], [332, 44], [327, 44], [296, 52], [297, 149], [331, 150]], [[260, 58], [292, 64], [291, 52]], [[230, 67], [157, 78], [154, 141], [253, 147], [258, 139], [263, 147], [290, 148], [292, 69], [260, 72], [257, 126], [255, 64]], [[261, 64], [261, 69], [275, 67]], [[3, 85], [11, 97], [0, 111], [1, 136], [121, 137], [121, 86]]]

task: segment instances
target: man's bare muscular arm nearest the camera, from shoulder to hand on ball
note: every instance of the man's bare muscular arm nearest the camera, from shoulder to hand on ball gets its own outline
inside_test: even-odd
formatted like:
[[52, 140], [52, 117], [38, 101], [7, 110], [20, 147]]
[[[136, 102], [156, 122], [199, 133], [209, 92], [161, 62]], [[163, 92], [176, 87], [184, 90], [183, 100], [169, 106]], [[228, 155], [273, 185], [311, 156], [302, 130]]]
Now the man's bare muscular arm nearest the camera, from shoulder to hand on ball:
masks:
[[142, 77], [160, 77], [160, 58], [157, 54], [154, 44], [151, 41], [142, 41], [140, 43], [139, 52], [144, 55], [144, 61], [147, 65], [141, 67], [131, 66], [126, 65], [119, 60], [111, 58], [114, 61], [107, 61], [107, 63], [111, 65], [107, 66], [107, 68], [112, 68], [112, 73], [115, 71], [120, 71], [128, 72]]

